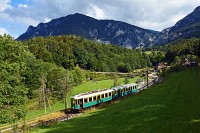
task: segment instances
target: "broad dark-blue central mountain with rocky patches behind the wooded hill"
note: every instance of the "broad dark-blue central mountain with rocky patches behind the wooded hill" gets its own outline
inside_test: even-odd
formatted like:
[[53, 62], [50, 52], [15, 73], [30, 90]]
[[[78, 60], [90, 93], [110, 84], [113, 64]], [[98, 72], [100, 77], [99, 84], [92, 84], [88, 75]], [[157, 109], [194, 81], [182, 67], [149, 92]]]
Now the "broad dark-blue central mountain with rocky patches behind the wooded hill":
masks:
[[17, 40], [36, 36], [57, 36], [75, 34], [101, 43], [111, 43], [128, 48], [155, 44], [159, 32], [143, 29], [128, 23], [114, 20], [97, 20], [82, 14], [73, 14], [40, 23], [28, 30]]

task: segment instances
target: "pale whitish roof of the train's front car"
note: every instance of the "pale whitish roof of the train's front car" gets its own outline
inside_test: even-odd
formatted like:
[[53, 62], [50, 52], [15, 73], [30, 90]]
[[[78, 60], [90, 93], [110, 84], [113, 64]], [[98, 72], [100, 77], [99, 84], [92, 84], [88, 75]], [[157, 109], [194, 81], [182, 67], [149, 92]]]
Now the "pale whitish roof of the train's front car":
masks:
[[87, 92], [87, 93], [75, 95], [72, 98], [83, 99], [83, 98], [93, 97], [93, 96], [97, 96], [97, 95], [101, 95], [101, 94], [105, 94], [105, 93], [109, 93], [109, 92], [113, 92], [113, 91], [114, 90], [111, 90], [111, 89], [97, 90], [97, 91], [92, 91], [92, 92]]

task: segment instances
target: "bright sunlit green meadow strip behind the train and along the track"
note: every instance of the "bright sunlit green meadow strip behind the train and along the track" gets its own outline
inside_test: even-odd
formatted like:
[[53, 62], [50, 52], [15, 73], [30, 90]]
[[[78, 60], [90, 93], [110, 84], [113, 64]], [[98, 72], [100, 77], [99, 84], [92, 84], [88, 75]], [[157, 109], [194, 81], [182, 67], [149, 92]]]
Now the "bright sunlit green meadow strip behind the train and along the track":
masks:
[[[135, 77], [135, 78], [131, 78], [129, 79], [130, 83], [134, 83], [136, 82], [136, 80], [139, 77]], [[119, 78], [118, 79], [118, 83], [120, 85], [124, 84], [124, 78]], [[99, 89], [104, 89], [104, 88], [110, 88], [111, 86], [113, 86], [113, 80], [109, 79], [109, 80], [102, 80], [102, 81], [96, 81], [96, 82], [85, 82], [81, 85], [78, 85], [76, 87], [73, 88], [73, 91], [71, 92], [71, 94], [68, 97], [68, 102], [69, 102], [69, 106], [70, 106], [70, 96], [72, 95], [77, 95], [79, 93], [84, 93], [84, 92], [88, 92], [88, 91], [92, 91], [92, 90], [99, 90]], [[63, 110], [65, 108], [64, 102], [57, 102], [56, 104], [51, 106], [52, 111], [58, 111], [58, 110]], [[50, 108], [47, 109], [47, 113], [49, 114], [51, 113]], [[31, 119], [31, 118], [35, 118], [38, 116], [42, 116], [45, 115], [44, 110], [33, 110], [33, 111], [28, 111], [26, 119]]]

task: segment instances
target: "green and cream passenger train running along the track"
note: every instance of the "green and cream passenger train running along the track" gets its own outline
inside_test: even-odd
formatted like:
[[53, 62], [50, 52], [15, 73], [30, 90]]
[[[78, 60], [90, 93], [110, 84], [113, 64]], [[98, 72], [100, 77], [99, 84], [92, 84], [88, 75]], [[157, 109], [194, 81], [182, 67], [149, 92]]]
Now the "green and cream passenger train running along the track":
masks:
[[[158, 81], [156, 76], [148, 86]], [[147, 85], [139, 87], [138, 83], [125, 84], [122, 86], [112, 87], [110, 89], [95, 90], [91, 92], [82, 93], [71, 97], [71, 109], [80, 111], [87, 109], [101, 103], [117, 100], [119, 98], [138, 93], [147, 88]]]

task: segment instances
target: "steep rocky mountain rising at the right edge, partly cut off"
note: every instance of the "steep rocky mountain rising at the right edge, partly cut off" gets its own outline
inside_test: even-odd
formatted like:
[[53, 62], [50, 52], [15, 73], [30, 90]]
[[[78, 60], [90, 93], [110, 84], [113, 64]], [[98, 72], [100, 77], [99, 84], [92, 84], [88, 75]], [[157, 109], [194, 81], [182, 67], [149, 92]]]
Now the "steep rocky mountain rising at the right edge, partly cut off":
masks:
[[174, 26], [164, 29], [157, 38], [158, 45], [167, 44], [178, 39], [200, 37], [200, 6]]

